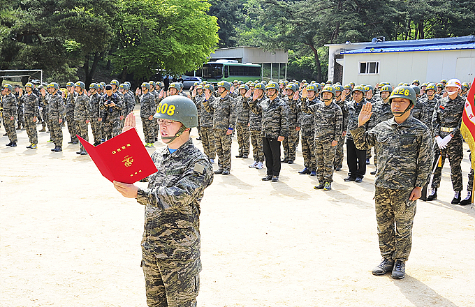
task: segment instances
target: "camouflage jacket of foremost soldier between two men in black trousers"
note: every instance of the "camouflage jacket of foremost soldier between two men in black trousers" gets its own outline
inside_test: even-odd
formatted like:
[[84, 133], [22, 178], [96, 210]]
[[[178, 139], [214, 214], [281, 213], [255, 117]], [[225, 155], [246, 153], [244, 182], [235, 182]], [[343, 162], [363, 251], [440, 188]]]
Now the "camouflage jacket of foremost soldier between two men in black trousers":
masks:
[[314, 114], [315, 139], [338, 142], [342, 138], [343, 113], [333, 101], [330, 105], [319, 101], [307, 107], [307, 102], [302, 100], [302, 112]]

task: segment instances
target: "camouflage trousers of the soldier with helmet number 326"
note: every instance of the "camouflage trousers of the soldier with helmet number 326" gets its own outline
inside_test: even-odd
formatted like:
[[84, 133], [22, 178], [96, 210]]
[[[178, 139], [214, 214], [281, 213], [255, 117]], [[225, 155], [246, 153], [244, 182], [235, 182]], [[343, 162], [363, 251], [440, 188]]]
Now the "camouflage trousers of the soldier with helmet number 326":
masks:
[[412, 246], [416, 201], [411, 190], [374, 187], [379, 250], [386, 259], [407, 261]]

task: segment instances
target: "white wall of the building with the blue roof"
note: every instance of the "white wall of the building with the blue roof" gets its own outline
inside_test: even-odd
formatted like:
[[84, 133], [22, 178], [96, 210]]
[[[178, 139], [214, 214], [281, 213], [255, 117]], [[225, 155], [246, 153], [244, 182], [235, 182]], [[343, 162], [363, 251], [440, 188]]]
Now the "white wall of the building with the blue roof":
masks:
[[[379, 61], [378, 75], [359, 75], [360, 61]], [[344, 54], [343, 84], [377, 84], [390, 82], [439, 82], [457, 77], [472, 82], [475, 73], [475, 50], [430, 52], [391, 52], [374, 54]]]

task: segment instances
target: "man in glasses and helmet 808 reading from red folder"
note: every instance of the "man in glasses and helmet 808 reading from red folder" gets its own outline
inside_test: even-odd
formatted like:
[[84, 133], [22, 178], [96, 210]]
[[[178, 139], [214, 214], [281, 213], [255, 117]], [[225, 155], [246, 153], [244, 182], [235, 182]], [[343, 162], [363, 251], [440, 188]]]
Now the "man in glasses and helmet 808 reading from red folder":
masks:
[[[148, 187], [114, 181], [124, 197], [145, 206], [142, 269], [147, 305], [196, 307], [200, 287], [200, 201], [213, 181], [210, 160], [193, 146], [191, 127], [198, 124], [196, 106], [189, 98], [170, 96], [157, 112], [162, 141], [168, 146], [152, 154], [158, 171]], [[168, 112], [170, 106], [176, 112]], [[124, 130], [135, 126], [129, 114]]]

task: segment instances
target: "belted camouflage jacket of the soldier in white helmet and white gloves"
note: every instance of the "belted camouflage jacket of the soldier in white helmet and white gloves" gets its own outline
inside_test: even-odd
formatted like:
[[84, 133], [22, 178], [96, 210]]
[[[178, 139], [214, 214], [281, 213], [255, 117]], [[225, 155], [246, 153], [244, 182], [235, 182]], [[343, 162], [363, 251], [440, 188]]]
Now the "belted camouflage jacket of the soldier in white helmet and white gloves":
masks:
[[[465, 99], [460, 95], [454, 100], [446, 96], [441, 98], [434, 109], [432, 115], [432, 130], [434, 137], [446, 137], [452, 133], [453, 136], [460, 135], [460, 126], [462, 125], [462, 114], [465, 108]], [[441, 131], [441, 128], [455, 128], [452, 132]]]

